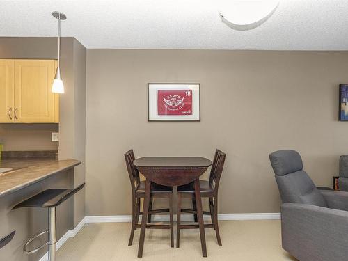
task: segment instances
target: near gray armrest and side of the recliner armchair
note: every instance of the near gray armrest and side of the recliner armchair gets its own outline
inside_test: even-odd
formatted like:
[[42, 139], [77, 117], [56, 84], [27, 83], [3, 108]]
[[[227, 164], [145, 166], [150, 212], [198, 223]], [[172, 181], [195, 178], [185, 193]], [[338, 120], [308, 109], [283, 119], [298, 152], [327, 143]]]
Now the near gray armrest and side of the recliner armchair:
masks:
[[348, 212], [284, 203], [283, 248], [301, 261], [343, 261], [348, 256]]

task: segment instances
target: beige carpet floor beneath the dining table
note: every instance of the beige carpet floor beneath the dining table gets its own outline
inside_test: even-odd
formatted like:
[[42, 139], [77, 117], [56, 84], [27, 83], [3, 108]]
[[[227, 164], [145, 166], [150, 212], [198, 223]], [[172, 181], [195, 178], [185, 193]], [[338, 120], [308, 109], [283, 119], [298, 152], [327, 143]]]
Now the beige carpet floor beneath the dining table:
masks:
[[146, 230], [143, 258], [136, 258], [140, 230], [127, 246], [130, 223], [89, 223], [58, 250], [57, 261], [223, 260], [282, 261], [292, 258], [281, 248], [280, 221], [220, 221], [223, 246], [206, 229], [208, 257], [203, 258], [198, 230], [182, 230], [180, 248], [171, 248], [169, 230]]

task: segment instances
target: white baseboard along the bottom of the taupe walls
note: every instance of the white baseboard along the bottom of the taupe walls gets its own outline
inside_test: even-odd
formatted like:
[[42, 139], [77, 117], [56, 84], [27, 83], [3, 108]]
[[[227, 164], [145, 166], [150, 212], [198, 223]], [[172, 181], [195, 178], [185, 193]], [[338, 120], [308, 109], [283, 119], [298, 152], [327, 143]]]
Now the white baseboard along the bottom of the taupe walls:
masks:
[[[173, 216], [173, 219], [176, 221], [176, 215]], [[205, 220], [210, 220], [210, 216], [204, 215]], [[219, 220], [271, 220], [271, 219], [280, 219], [280, 213], [244, 213], [244, 214], [219, 214]], [[140, 219], [141, 220], [141, 219]], [[181, 216], [182, 221], [193, 221], [193, 215], [183, 214]], [[169, 221], [169, 215], [154, 215], [153, 221]], [[131, 215], [124, 216], [85, 216], [84, 219], [72, 230], [68, 232], [58, 240], [56, 244], [56, 250], [58, 251], [61, 246], [70, 238], [77, 235], [77, 233], [84, 227], [86, 223], [120, 223], [120, 222], [132, 222]], [[39, 261], [47, 261], [48, 253], [40, 258]]]

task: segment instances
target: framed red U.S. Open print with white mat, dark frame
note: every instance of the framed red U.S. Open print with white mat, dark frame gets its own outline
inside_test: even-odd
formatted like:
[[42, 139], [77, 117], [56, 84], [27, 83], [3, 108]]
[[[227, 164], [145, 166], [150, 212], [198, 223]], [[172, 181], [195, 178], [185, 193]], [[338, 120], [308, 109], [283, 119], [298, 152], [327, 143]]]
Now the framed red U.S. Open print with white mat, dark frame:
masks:
[[148, 84], [148, 121], [200, 121], [200, 84]]

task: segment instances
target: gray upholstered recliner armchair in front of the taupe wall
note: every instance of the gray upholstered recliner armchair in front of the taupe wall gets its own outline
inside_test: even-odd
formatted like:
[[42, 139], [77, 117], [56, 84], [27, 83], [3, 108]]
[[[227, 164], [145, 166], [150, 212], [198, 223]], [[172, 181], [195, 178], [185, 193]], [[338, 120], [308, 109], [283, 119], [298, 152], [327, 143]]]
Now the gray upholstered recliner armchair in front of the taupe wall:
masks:
[[294, 150], [269, 159], [283, 201], [283, 248], [300, 261], [347, 261], [348, 192], [318, 190]]

